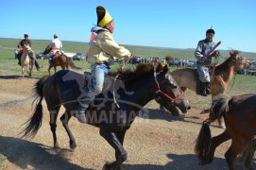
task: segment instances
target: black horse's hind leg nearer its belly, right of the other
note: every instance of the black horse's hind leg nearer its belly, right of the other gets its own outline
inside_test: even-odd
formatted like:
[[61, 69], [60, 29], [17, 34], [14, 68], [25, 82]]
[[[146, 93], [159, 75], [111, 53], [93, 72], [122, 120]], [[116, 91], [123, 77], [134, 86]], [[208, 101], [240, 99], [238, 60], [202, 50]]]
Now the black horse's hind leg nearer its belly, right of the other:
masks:
[[68, 122], [72, 117], [70, 111], [65, 111], [64, 114], [60, 117], [60, 121], [62, 122], [62, 126], [66, 129], [66, 132], [69, 137], [69, 146], [71, 149], [75, 149], [77, 147], [76, 140], [68, 126]]

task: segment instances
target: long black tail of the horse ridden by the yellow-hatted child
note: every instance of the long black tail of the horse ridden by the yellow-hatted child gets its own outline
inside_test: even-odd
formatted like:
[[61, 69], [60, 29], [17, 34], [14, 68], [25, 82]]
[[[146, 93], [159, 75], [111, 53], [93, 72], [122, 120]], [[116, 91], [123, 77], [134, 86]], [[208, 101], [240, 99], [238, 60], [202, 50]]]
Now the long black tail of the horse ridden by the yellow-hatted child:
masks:
[[[34, 92], [36, 94], [36, 99], [33, 101], [32, 105], [37, 102], [35, 106], [34, 113], [31, 115], [31, 117], [26, 121], [25, 124], [28, 124], [25, 129], [21, 132], [23, 133], [22, 138], [33, 138], [39, 128], [42, 126], [42, 119], [43, 119], [43, 85], [46, 82], [46, 80], [49, 78], [48, 75], [43, 76], [40, 80], [38, 80], [34, 87]], [[25, 125], [23, 124], [23, 125]], [[20, 133], [20, 134], [21, 134]]]

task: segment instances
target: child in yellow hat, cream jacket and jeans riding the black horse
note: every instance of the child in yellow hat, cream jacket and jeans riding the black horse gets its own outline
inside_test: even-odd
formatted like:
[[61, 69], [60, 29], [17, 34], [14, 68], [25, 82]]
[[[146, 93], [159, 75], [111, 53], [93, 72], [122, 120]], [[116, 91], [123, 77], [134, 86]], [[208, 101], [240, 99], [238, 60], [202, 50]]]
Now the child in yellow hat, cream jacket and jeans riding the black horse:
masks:
[[92, 37], [87, 51], [87, 61], [91, 63], [92, 85], [78, 101], [77, 120], [86, 123], [85, 110], [95, 95], [102, 93], [104, 76], [108, 74], [114, 58], [129, 58], [131, 53], [124, 46], [113, 40], [114, 22], [110, 13], [103, 7], [96, 8], [97, 26], [91, 30]]

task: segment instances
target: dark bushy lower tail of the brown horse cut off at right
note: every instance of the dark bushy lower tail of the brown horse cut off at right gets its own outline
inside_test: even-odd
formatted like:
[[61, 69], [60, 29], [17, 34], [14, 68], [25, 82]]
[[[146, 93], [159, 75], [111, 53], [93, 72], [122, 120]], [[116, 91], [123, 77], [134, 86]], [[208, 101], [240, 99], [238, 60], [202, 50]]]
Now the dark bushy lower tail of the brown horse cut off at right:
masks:
[[205, 163], [209, 155], [212, 139], [211, 129], [209, 127], [210, 124], [210, 119], [207, 119], [203, 122], [203, 125], [196, 139], [195, 153], [201, 164]]

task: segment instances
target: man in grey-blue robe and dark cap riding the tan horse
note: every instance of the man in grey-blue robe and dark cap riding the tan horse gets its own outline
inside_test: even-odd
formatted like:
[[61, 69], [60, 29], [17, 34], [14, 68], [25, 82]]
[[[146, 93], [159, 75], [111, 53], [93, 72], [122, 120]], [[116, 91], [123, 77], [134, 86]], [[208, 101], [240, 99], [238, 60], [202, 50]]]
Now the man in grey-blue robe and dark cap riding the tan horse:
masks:
[[203, 84], [203, 90], [201, 95], [207, 96], [210, 94], [210, 74], [209, 74], [209, 66], [212, 64], [212, 57], [218, 57], [219, 52], [214, 51], [212, 55], [208, 58], [206, 55], [209, 51], [213, 49], [215, 46], [215, 42], [213, 42], [215, 31], [213, 28], [210, 28], [206, 31], [206, 38], [197, 43], [195, 57], [197, 59], [197, 72], [199, 76], [199, 80]]

